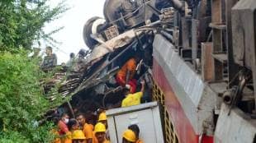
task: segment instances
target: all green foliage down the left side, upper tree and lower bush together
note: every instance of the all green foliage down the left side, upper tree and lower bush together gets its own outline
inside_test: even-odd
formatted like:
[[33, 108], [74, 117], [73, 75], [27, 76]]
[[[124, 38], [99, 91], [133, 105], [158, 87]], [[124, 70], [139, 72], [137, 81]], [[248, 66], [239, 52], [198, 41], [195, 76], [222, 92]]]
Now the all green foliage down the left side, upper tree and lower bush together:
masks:
[[[40, 39], [55, 42], [45, 34], [46, 23], [54, 21], [67, 10], [64, 2], [50, 7], [49, 0], [0, 1], [0, 142], [50, 142], [53, 125], [45, 122], [37, 126], [50, 108], [66, 99], [50, 102], [43, 95], [42, 79], [51, 75], [40, 71], [39, 59], [28, 58], [32, 44]], [[56, 93], [57, 88], [50, 92]]]

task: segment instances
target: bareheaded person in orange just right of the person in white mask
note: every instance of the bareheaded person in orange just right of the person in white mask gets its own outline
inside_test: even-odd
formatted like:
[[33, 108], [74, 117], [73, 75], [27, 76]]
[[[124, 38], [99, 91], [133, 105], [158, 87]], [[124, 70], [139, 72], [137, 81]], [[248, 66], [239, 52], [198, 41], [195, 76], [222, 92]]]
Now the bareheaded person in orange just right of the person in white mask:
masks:
[[64, 143], [72, 143], [73, 131], [76, 131], [79, 129], [79, 123], [76, 119], [71, 118], [69, 120], [68, 127], [69, 127], [69, 131], [66, 133], [66, 135], [64, 137]]

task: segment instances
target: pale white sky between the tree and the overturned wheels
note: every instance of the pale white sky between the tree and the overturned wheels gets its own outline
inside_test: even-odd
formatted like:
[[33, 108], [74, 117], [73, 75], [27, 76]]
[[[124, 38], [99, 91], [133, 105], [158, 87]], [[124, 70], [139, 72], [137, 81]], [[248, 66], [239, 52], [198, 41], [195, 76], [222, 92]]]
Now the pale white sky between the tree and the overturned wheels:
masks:
[[[55, 6], [62, 0], [50, 0], [50, 6]], [[54, 53], [58, 57], [58, 64], [69, 60], [69, 53], [77, 54], [79, 49], [87, 48], [83, 42], [83, 25], [92, 16], [103, 17], [103, 5], [105, 0], [66, 0], [66, 4], [70, 7], [58, 20], [52, 21], [45, 26], [45, 32], [50, 32], [58, 27], [64, 26], [52, 37], [60, 42], [54, 48]], [[41, 48], [45, 48], [44, 41]]]

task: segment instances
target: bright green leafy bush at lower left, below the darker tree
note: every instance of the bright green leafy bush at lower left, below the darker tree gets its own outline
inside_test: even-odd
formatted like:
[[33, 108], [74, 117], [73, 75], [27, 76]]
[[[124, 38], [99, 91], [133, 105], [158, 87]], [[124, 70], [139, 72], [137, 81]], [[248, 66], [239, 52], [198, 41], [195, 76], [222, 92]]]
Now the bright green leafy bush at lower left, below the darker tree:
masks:
[[36, 126], [50, 107], [45, 99], [40, 71], [35, 59], [27, 58], [25, 52], [0, 54], [0, 142], [50, 142], [52, 125]]

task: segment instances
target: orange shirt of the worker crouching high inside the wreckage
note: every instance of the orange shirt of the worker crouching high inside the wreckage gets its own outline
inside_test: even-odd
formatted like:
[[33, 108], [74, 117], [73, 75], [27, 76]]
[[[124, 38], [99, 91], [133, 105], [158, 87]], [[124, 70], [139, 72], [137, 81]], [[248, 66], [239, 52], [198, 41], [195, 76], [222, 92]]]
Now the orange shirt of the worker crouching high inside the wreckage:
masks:
[[118, 77], [125, 77], [127, 71], [130, 71], [129, 80], [133, 78], [135, 75], [135, 69], [136, 69], [136, 61], [135, 58], [130, 58], [124, 65], [121, 67], [121, 69], [117, 72], [116, 76]]

